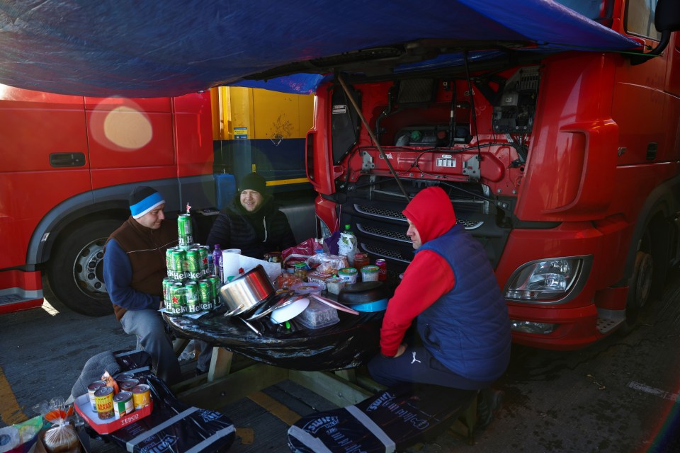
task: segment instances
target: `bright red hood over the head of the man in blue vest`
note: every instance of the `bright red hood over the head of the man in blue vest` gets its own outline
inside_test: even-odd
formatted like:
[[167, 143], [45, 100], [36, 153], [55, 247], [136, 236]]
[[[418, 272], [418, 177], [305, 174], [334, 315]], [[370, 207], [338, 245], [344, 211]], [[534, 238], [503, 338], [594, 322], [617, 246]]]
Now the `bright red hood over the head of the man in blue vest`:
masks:
[[422, 243], [438, 238], [455, 225], [451, 200], [439, 187], [421, 190], [402, 213], [416, 226]]

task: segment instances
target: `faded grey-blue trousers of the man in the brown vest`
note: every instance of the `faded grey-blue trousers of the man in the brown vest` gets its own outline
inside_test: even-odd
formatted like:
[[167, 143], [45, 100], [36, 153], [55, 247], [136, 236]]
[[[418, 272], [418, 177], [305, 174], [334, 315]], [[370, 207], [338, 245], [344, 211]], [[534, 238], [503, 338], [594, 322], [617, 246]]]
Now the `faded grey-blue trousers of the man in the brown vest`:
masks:
[[128, 310], [120, 320], [123, 331], [137, 336], [137, 345], [151, 355], [156, 375], [166, 384], [181, 381], [179, 361], [165, 331], [165, 321], [156, 310]]

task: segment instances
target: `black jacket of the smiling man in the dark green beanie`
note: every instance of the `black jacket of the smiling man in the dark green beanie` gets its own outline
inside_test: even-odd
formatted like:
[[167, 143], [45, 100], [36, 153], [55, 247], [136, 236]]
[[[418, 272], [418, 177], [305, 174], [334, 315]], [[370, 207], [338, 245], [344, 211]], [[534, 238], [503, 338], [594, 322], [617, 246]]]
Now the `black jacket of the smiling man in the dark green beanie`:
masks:
[[283, 251], [296, 245], [288, 217], [278, 210], [272, 197], [267, 197], [262, 207], [250, 213], [241, 205], [239, 195], [215, 220], [208, 234], [207, 244], [220, 248], [240, 248], [241, 254], [263, 259], [271, 251]]

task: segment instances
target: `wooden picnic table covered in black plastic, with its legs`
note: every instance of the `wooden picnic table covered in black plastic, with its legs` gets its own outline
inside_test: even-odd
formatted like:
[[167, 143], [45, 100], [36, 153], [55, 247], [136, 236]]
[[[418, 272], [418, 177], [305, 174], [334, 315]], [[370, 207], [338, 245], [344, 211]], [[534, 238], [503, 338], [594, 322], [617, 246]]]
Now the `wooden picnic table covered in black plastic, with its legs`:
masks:
[[[183, 401], [219, 408], [290, 379], [344, 406], [362, 401], [381, 388], [375, 383], [368, 384], [368, 389], [366, 385], [358, 386], [352, 369], [378, 352], [382, 311], [359, 315], [339, 311], [339, 323], [318, 329], [301, 328], [295, 319], [287, 329], [264, 316], [250, 321], [261, 336], [241, 320], [225, 317], [224, 312], [221, 309], [198, 319], [164, 314], [177, 336], [205, 340], [215, 346], [208, 382], [180, 386], [177, 393]], [[234, 353], [258, 363], [232, 370]]]

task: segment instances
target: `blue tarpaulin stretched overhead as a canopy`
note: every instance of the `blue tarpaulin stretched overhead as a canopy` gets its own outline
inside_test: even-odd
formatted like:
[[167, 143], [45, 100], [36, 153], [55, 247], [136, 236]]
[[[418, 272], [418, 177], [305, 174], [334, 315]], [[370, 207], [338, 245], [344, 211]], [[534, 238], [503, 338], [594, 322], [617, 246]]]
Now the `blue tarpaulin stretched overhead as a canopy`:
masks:
[[[176, 96], [229, 84], [310, 93], [322, 69], [245, 79], [416, 40], [474, 42], [470, 50], [498, 42], [551, 52], [639, 47], [553, 0], [14, 0], [0, 2], [0, 83], [86, 96]], [[433, 58], [424, 64], [448, 61]]]

